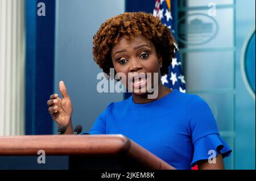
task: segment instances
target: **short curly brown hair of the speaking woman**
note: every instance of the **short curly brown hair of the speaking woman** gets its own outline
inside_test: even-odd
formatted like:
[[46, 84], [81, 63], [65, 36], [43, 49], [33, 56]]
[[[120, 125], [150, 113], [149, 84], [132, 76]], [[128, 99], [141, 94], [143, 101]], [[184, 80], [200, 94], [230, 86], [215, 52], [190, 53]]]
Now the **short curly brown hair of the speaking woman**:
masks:
[[162, 56], [161, 75], [168, 74], [168, 67], [177, 50], [174, 37], [170, 29], [158, 18], [146, 12], [125, 12], [102, 23], [93, 36], [94, 61], [110, 76], [109, 70], [114, 68], [111, 58], [112, 47], [123, 36], [130, 41], [138, 35], [147, 37], [155, 45], [156, 52]]

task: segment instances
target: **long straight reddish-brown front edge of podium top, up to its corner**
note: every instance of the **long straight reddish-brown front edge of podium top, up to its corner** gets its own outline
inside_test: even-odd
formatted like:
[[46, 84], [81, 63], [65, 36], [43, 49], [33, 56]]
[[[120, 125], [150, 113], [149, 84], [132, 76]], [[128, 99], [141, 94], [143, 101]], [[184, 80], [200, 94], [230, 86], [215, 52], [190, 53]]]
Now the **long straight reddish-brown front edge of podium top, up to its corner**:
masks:
[[28, 135], [0, 137], [0, 155], [120, 154], [129, 151], [131, 141], [122, 134]]

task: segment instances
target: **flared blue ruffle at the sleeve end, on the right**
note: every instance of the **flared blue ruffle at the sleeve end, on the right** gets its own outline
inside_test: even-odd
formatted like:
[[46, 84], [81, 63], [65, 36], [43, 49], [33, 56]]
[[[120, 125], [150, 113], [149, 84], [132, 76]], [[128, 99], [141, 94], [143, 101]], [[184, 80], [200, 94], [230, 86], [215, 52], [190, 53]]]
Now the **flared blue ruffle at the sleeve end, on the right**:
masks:
[[228, 144], [220, 137], [220, 134], [209, 134], [193, 143], [194, 153], [191, 166], [195, 166], [197, 161], [213, 157], [213, 151], [216, 151], [216, 157], [219, 153], [222, 157], [229, 157], [232, 150]]

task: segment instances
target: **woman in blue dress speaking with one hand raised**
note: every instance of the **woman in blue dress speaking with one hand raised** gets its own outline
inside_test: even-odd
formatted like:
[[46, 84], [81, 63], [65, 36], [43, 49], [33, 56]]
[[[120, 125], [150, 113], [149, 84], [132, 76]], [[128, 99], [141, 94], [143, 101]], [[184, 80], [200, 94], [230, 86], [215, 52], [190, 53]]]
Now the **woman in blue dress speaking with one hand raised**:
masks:
[[[110, 103], [88, 134], [123, 134], [176, 169], [224, 169], [222, 158], [231, 150], [208, 104], [160, 81], [175, 50], [170, 30], [151, 14], [126, 12], [103, 23], [93, 37], [94, 61], [110, 77], [110, 68], [125, 74], [121, 82], [132, 96]], [[155, 98], [148, 98], [150, 89], [157, 91]], [[49, 113], [59, 126], [67, 126], [65, 134], [72, 134], [73, 108], [63, 82], [60, 92], [62, 99], [53, 94], [48, 100]], [[210, 158], [215, 163], [208, 162]]]

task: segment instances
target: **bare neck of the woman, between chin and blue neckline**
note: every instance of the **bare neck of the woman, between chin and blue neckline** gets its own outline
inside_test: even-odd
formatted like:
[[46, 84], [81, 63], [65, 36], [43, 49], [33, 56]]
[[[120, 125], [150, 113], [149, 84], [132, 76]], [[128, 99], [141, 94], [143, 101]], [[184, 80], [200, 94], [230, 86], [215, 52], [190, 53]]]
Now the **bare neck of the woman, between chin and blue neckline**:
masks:
[[150, 103], [155, 100], [161, 99], [167, 94], [170, 94], [172, 92], [171, 89], [168, 89], [166, 86], [162, 85], [162, 83], [159, 84], [158, 86], [158, 96], [155, 99], [148, 99], [148, 94], [144, 95], [137, 95], [133, 93], [133, 101], [137, 104], [145, 104], [145, 103]]

